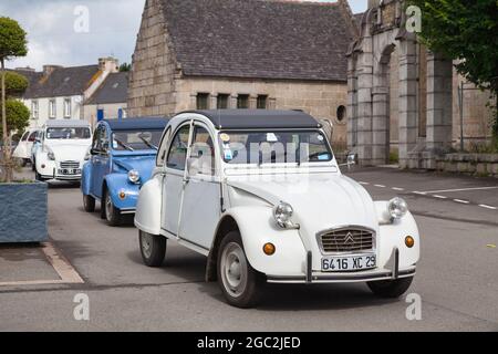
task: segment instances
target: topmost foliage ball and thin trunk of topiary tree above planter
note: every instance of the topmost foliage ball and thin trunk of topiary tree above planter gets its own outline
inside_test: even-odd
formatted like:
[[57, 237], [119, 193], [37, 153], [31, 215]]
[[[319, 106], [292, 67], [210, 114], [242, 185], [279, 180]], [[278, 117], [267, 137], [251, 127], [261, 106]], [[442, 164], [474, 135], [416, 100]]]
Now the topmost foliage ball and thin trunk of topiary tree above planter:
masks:
[[6, 180], [12, 180], [12, 158], [9, 128], [7, 126], [7, 102], [6, 102], [6, 61], [28, 54], [28, 41], [24, 30], [12, 19], [0, 17], [0, 64], [1, 64], [1, 114], [3, 136], [3, 166]]

